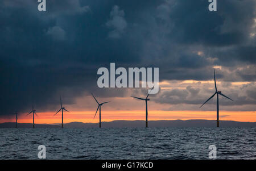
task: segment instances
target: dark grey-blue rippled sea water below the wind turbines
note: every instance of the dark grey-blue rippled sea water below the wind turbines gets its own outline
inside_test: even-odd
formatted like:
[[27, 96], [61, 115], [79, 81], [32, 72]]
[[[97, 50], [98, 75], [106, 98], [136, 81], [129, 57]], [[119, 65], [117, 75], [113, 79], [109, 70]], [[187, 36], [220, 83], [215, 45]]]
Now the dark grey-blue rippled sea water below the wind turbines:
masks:
[[0, 159], [256, 159], [256, 128], [2, 128]]

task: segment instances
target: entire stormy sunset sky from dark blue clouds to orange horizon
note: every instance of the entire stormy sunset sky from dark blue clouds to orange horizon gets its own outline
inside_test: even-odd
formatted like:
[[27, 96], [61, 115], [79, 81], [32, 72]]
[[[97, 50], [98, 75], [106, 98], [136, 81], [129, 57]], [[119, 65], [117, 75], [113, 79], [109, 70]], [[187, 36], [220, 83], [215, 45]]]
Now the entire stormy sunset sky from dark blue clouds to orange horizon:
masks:
[[216, 69], [220, 120], [256, 122], [256, 1], [207, 0], [0, 2], [0, 123], [143, 120], [146, 88], [99, 88], [97, 70], [159, 68], [159, 93], [150, 95], [149, 120], [216, 119]]

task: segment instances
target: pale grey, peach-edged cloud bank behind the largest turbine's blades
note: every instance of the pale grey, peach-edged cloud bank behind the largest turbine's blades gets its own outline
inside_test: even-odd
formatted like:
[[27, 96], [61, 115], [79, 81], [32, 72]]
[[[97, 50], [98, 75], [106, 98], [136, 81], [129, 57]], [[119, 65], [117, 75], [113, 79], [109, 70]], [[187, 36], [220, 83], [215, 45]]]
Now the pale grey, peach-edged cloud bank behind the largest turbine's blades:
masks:
[[[171, 87], [171, 90], [166, 89], [168, 87]], [[161, 92], [154, 99], [152, 99], [152, 101], [169, 105], [195, 105], [197, 108], [207, 101], [207, 99], [215, 92], [213, 80], [212, 82], [203, 83], [200, 81], [191, 81], [188, 83], [184, 83], [183, 81], [170, 81], [168, 85], [162, 86], [161, 88]], [[226, 99], [220, 95], [220, 105], [227, 107], [251, 105], [250, 109], [255, 110], [255, 88], [255, 82], [245, 82], [243, 84], [233, 85], [229, 82], [220, 82], [217, 80], [217, 89], [234, 100], [230, 101], [229, 99]], [[203, 110], [210, 109], [212, 105], [216, 106], [216, 96], [204, 105]], [[172, 107], [172, 110], [175, 110], [175, 107]], [[176, 110], [180, 110], [180, 108], [177, 108]]]

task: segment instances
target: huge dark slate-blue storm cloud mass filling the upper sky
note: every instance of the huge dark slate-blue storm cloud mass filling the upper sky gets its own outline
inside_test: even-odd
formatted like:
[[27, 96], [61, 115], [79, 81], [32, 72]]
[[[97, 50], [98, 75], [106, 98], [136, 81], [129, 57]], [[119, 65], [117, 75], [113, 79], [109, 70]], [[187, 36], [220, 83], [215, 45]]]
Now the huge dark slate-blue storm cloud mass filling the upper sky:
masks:
[[[97, 69], [110, 62], [159, 67], [160, 80], [209, 80], [212, 66], [222, 65], [230, 70], [220, 79], [255, 81], [255, 1], [218, 1], [217, 12], [203, 0], [47, 1], [46, 12], [31, 0], [0, 5], [1, 114], [33, 102], [46, 110], [59, 95], [69, 104], [90, 91], [123, 96], [97, 88]], [[177, 103], [198, 91], [166, 97]]]

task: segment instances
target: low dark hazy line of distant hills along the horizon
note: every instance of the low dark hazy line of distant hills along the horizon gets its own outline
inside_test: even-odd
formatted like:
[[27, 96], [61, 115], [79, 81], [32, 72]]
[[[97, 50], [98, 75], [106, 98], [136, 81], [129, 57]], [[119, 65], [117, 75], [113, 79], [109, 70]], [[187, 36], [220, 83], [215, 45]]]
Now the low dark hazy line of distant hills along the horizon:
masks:
[[[14, 122], [0, 123], [0, 128], [14, 128]], [[31, 123], [18, 123], [19, 128], [32, 128]], [[36, 128], [60, 128], [60, 124], [35, 124]], [[98, 123], [71, 122], [65, 128], [97, 128]], [[102, 128], [143, 128], [144, 120], [114, 120], [102, 122]], [[151, 120], [148, 127], [216, 127], [216, 120]], [[220, 121], [220, 127], [256, 127], [256, 122]]]

